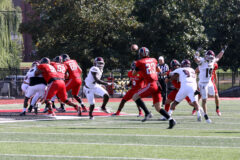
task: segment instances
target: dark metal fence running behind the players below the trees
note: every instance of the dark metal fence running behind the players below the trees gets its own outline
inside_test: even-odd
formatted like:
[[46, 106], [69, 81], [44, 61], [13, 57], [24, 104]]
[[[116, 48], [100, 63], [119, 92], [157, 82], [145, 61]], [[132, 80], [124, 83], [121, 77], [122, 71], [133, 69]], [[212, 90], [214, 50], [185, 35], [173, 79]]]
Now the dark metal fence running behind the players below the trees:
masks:
[[[0, 99], [3, 98], [23, 98], [24, 94], [21, 90], [21, 85], [28, 69], [4, 69], [0, 68]], [[231, 92], [230, 88], [240, 88], [240, 74], [239, 72], [233, 74], [232, 72], [217, 72], [218, 83], [217, 87], [221, 93], [225, 91]], [[108, 86], [106, 89], [112, 97], [122, 97], [128, 88], [126, 87], [129, 79], [127, 71], [114, 70], [106, 71], [103, 75], [105, 81], [114, 81], [117, 84], [116, 88]], [[240, 90], [240, 89], [238, 89]], [[84, 97], [82, 88], [79, 93]], [[71, 96], [71, 95], [70, 95]], [[224, 96], [224, 94], [223, 94]], [[240, 96], [236, 95], [235, 96]]]

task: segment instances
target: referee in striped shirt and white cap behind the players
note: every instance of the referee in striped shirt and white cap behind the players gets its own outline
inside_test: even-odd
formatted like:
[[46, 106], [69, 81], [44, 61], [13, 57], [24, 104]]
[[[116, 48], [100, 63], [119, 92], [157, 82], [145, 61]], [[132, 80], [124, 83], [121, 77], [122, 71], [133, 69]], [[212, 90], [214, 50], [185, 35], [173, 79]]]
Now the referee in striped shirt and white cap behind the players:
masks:
[[169, 67], [165, 64], [163, 56], [158, 58], [158, 66], [161, 68], [161, 72], [158, 74], [158, 81], [162, 86], [162, 105], [164, 106], [167, 99], [167, 84], [165, 78], [167, 77], [166, 73], [169, 71]]

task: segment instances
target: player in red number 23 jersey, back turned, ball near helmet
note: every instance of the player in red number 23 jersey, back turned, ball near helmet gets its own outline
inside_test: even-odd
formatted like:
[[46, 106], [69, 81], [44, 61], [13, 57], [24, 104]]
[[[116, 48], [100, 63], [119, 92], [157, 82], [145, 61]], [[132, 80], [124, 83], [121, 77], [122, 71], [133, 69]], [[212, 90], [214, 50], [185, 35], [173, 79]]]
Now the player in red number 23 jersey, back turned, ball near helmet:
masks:
[[172, 129], [176, 124], [175, 120], [172, 119], [169, 114], [161, 108], [161, 93], [159, 90], [158, 75], [160, 68], [157, 66], [157, 60], [155, 58], [149, 57], [149, 50], [146, 47], [139, 49], [139, 60], [136, 61], [136, 66], [133, 70], [133, 75], [141, 72], [146, 83], [146, 86], [140, 89], [137, 93], [133, 95], [133, 100], [136, 102], [137, 106], [140, 106], [145, 112], [145, 118], [142, 122], [152, 118], [152, 113], [149, 112], [145, 103], [141, 98], [152, 96], [153, 105], [155, 109], [164, 117], [169, 120], [169, 129]]

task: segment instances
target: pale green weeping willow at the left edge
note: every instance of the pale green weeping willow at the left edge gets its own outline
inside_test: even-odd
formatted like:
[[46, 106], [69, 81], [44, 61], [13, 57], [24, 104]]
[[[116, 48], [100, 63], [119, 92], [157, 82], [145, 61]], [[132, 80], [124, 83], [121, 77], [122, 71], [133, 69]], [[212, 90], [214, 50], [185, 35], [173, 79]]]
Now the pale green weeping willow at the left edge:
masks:
[[0, 2], [0, 67], [18, 68], [21, 61], [21, 36], [18, 26], [21, 21], [20, 8], [15, 9], [11, 0]]

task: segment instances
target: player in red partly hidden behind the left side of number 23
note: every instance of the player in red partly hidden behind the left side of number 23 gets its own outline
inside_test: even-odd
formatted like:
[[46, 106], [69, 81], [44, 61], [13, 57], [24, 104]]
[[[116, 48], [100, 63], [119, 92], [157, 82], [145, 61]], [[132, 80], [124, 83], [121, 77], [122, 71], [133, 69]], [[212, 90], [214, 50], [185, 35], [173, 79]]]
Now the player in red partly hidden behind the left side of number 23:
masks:
[[[135, 66], [135, 62], [133, 62], [131, 66]], [[139, 72], [135, 76], [133, 76], [132, 70], [131, 70], [128, 72], [128, 77], [130, 78], [130, 83], [128, 84], [128, 86], [131, 86], [132, 88], [130, 90], [128, 90], [127, 93], [125, 94], [125, 96], [122, 98], [117, 112], [113, 114], [114, 116], [119, 116], [125, 103], [127, 101], [129, 101], [130, 99], [132, 99], [133, 95], [135, 93], [137, 93], [139, 89], [144, 88], [144, 81], [143, 81], [141, 72]], [[137, 107], [138, 107], [138, 111], [139, 111], [138, 116], [142, 116], [142, 110], [140, 109], [139, 106], [137, 106]]]

